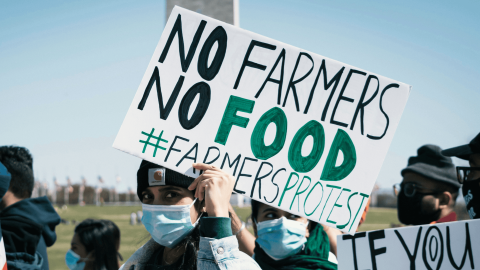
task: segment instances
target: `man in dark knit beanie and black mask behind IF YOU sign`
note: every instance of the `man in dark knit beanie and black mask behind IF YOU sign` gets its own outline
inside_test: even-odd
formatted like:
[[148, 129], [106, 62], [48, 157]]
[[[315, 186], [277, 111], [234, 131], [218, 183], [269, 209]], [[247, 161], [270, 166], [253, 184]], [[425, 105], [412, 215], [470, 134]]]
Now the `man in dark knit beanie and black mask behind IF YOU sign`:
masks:
[[402, 170], [403, 181], [394, 186], [398, 219], [407, 225], [456, 221], [453, 210], [460, 184], [452, 159], [436, 145], [424, 145]]

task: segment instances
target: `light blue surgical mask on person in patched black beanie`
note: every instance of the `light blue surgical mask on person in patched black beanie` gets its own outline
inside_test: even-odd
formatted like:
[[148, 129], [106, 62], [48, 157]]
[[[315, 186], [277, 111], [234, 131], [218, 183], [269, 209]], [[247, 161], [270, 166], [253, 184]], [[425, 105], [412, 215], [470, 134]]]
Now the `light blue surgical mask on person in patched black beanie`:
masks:
[[197, 226], [190, 219], [190, 208], [195, 199], [188, 205], [153, 205], [142, 204], [142, 223], [155, 242], [173, 248]]

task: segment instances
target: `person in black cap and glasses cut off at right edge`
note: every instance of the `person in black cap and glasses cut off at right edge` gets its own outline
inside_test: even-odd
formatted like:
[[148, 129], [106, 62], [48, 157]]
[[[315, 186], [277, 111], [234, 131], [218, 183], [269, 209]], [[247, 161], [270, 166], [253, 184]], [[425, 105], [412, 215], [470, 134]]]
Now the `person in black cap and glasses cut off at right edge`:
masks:
[[458, 181], [470, 218], [480, 218], [480, 133], [467, 145], [447, 150], [442, 154], [468, 160], [470, 167], [457, 167]]

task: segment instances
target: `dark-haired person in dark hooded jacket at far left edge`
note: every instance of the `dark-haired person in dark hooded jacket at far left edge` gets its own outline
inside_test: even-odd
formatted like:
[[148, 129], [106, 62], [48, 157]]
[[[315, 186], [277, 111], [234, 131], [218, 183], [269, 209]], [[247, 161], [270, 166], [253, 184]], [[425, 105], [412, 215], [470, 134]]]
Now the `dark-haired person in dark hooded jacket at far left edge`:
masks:
[[11, 174], [7, 192], [0, 202], [0, 223], [8, 269], [48, 270], [47, 246], [52, 246], [60, 224], [47, 197], [32, 196], [33, 159], [24, 147], [0, 147], [0, 162]]

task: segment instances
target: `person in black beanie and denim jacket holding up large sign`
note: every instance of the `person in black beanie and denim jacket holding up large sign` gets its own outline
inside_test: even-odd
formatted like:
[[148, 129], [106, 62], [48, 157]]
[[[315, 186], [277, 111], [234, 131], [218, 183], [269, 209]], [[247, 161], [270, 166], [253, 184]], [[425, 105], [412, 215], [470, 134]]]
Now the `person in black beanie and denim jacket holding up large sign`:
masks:
[[260, 269], [232, 234], [233, 176], [212, 165], [193, 167], [203, 171], [196, 179], [142, 161], [137, 195], [152, 239], [120, 269]]

